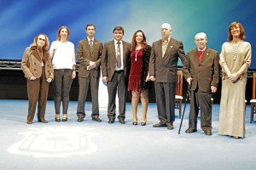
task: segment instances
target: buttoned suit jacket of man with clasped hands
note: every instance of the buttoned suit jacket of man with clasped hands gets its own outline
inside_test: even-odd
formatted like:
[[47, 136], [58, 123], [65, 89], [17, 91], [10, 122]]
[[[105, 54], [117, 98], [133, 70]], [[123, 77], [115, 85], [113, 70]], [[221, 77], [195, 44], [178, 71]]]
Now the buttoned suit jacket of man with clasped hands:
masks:
[[[79, 77], [88, 77], [90, 73], [93, 74], [93, 77], [101, 77], [102, 42], [94, 38], [91, 51], [87, 37], [79, 41], [76, 54], [79, 60]], [[96, 68], [89, 71], [86, 67], [90, 65], [90, 61], [96, 62]]]

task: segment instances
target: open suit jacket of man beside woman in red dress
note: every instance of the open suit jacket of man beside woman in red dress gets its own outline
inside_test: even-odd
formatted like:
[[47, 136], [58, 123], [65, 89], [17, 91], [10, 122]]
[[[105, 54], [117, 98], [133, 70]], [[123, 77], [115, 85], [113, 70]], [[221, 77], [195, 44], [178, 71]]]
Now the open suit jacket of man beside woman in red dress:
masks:
[[[123, 42], [123, 63], [125, 71], [125, 80], [128, 80], [129, 76], [129, 65], [131, 55], [131, 44]], [[102, 77], [108, 77], [108, 81], [112, 80], [113, 73], [116, 66], [116, 53], [114, 47], [114, 41], [105, 42], [102, 51]]]

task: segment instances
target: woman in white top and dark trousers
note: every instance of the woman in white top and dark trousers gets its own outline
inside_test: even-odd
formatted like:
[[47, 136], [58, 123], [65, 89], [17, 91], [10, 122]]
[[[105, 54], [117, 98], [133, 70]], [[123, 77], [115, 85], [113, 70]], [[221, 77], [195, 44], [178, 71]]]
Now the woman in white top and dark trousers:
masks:
[[69, 91], [73, 79], [76, 77], [76, 61], [73, 42], [68, 42], [70, 31], [67, 26], [61, 26], [58, 30], [57, 40], [52, 42], [49, 54], [52, 58], [55, 80], [55, 121], [67, 122], [67, 108], [69, 103]]

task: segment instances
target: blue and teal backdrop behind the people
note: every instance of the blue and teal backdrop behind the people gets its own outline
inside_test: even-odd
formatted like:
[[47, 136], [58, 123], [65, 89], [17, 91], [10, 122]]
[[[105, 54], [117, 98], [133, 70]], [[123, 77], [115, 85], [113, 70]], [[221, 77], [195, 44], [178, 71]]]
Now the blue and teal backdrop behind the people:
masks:
[[[133, 32], [142, 29], [152, 44], [160, 39], [160, 25], [168, 22], [185, 52], [195, 48], [199, 31], [207, 33], [208, 47], [220, 52], [230, 22], [238, 20], [253, 52], [256, 46], [254, 0], [0, 0], [0, 7], [0, 59], [21, 59], [38, 33], [55, 41], [60, 26], [69, 27], [70, 41], [77, 47], [88, 23], [96, 25], [96, 38], [102, 42], [113, 39], [114, 26], [123, 26], [125, 41], [131, 42]], [[250, 68], [256, 69], [256, 59]]]

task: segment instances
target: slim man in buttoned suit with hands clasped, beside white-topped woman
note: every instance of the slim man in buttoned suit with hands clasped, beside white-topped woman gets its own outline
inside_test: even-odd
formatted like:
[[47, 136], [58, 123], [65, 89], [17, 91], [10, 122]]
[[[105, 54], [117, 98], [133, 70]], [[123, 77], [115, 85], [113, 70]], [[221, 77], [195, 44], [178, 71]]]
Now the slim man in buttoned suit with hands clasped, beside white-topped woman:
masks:
[[77, 58], [79, 60], [79, 103], [77, 109], [78, 122], [83, 122], [85, 117], [85, 99], [90, 86], [90, 94], [92, 99], [93, 121], [102, 122], [99, 117], [99, 101], [98, 88], [99, 79], [101, 77], [101, 56], [102, 42], [96, 40], [94, 34], [96, 26], [88, 24], [85, 26], [87, 37], [79, 41], [77, 49]]

